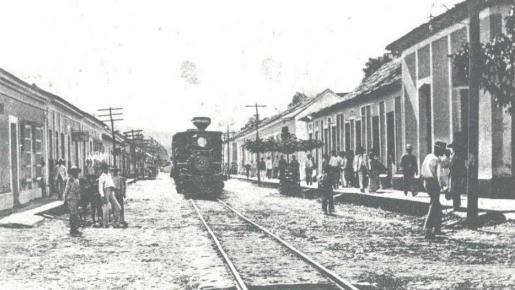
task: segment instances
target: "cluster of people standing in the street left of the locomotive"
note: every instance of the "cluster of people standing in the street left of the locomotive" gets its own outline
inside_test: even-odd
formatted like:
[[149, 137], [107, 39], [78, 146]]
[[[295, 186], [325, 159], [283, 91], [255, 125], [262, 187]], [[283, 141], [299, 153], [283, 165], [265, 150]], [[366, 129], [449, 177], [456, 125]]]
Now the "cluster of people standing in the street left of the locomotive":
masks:
[[94, 227], [127, 227], [124, 210], [126, 180], [119, 175], [118, 168], [109, 168], [102, 163], [100, 174], [97, 174], [93, 163], [86, 162], [84, 176], [79, 178], [79, 168], [74, 166], [67, 170], [65, 162], [59, 160], [55, 172], [58, 197], [64, 199], [70, 213], [70, 235], [82, 235], [79, 227], [86, 224], [88, 206]]

